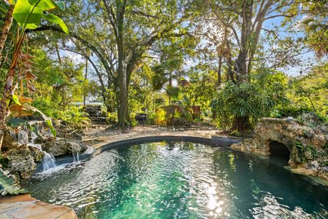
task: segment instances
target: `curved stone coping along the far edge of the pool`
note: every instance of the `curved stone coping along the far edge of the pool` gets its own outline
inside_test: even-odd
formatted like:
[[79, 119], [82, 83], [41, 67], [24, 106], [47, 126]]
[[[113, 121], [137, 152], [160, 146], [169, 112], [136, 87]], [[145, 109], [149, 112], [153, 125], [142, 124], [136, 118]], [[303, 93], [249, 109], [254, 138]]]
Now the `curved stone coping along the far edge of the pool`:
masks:
[[164, 131], [155, 133], [125, 133], [116, 136], [83, 136], [83, 142], [96, 142], [91, 146], [99, 152], [122, 144], [137, 144], [141, 142], [156, 142], [163, 140], [182, 140], [192, 142], [206, 142], [220, 146], [230, 146], [241, 142], [242, 138], [232, 136], [218, 136], [216, 130], [208, 131]]

